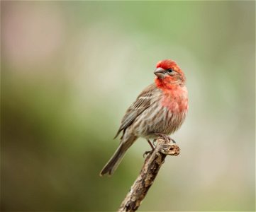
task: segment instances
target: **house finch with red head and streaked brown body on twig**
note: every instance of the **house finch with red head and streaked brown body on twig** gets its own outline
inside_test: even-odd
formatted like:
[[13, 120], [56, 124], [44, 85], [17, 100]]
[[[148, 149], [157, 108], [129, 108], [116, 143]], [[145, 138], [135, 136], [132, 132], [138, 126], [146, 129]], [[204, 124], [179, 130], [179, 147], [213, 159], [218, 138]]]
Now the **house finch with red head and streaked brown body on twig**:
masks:
[[[184, 122], [188, 95], [182, 69], [171, 59], [157, 63], [155, 83], [145, 88], [124, 115], [115, 138], [123, 133], [121, 142], [100, 175], [112, 175], [128, 148], [138, 139], [166, 137]], [[152, 145], [150, 145], [152, 147]]]

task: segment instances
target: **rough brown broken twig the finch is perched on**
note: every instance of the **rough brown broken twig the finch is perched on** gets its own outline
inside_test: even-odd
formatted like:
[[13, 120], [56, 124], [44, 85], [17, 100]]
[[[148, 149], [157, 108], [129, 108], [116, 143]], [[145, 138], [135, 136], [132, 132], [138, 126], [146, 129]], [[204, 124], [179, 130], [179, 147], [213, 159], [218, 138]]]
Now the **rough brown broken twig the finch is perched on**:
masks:
[[118, 212], [136, 211], [141, 201], [145, 198], [148, 189], [154, 182], [161, 165], [165, 162], [167, 155], [179, 155], [179, 146], [171, 141], [157, 139], [155, 150], [145, 159], [144, 165], [140, 171], [130, 191], [123, 200]]

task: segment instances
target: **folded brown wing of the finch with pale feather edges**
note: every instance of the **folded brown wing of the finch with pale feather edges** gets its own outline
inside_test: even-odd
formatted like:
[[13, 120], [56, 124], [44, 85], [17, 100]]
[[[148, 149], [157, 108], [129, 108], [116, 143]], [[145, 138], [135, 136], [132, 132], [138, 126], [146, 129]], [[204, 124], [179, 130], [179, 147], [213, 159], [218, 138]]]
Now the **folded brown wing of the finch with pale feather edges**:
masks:
[[124, 115], [121, 126], [117, 131], [116, 137], [118, 134], [121, 133], [121, 131], [126, 130], [130, 124], [133, 124], [134, 120], [148, 107], [150, 107], [153, 91], [156, 89], [155, 84], [151, 84], [147, 88], [143, 90], [140, 95], [138, 95], [138, 98], [133, 102], [133, 105], [130, 105], [128, 110], [126, 111], [126, 114]]

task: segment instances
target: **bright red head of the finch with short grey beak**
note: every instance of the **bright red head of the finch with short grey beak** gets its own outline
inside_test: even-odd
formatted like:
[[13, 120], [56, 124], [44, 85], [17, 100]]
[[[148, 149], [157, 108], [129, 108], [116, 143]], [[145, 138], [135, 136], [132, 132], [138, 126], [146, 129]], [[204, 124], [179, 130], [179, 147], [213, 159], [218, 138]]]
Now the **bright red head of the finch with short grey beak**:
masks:
[[156, 79], [155, 82], [165, 86], [168, 85], [179, 85], [184, 86], [186, 78], [182, 69], [171, 59], [165, 59], [159, 61], [156, 66], [154, 73]]

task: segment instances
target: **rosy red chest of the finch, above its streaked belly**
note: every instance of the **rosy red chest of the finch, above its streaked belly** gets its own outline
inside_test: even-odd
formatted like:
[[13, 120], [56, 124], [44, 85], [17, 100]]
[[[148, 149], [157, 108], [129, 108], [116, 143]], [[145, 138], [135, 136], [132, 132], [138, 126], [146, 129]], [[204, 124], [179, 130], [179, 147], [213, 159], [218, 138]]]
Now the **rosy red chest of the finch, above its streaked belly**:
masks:
[[187, 88], [182, 87], [165, 91], [161, 103], [172, 114], [187, 112], [189, 106]]

